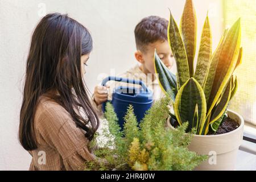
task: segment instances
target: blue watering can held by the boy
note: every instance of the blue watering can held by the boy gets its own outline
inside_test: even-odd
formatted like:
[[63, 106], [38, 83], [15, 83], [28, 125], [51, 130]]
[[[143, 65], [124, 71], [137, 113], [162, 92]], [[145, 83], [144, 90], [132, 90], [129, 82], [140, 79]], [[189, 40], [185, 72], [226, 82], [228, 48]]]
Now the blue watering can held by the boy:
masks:
[[[101, 85], [106, 86], [106, 82], [110, 80], [141, 85], [141, 88], [118, 86], [113, 90], [111, 101], [111, 104], [114, 107], [114, 111], [117, 114], [121, 130], [123, 130], [123, 124], [125, 123], [123, 118], [125, 117], [129, 105], [133, 105], [134, 114], [137, 117], [137, 121], [141, 122], [144, 114], [148, 109], [150, 109], [153, 102], [153, 93], [151, 90], [149, 90], [141, 80], [131, 80], [129, 78], [114, 76], [106, 77], [102, 81]], [[105, 111], [105, 106], [106, 102], [103, 104], [103, 112]]]

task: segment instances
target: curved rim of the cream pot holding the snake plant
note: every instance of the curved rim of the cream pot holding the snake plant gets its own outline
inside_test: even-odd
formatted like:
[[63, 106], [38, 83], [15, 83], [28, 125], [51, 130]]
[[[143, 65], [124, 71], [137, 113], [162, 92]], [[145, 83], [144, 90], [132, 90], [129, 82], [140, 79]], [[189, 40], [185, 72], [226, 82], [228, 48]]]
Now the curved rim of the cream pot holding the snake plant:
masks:
[[[229, 110], [229, 109], [228, 109], [228, 113], [233, 113], [233, 114], [237, 115], [238, 118], [240, 118], [241, 123], [240, 123], [240, 126], [237, 127], [237, 129], [235, 129], [233, 131], [230, 131], [228, 133], [224, 133], [224, 134], [217, 134], [217, 135], [196, 135], [196, 134], [193, 134], [193, 136], [199, 137], [199, 138], [205, 138], [205, 137], [216, 138], [216, 137], [222, 137], [222, 136], [225, 136], [225, 135], [232, 135], [233, 133], [236, 133], [237, 131], [241, 130], [244, 123], [245, 123], [242, 116], [240, 114], [236, 113], [235, 111], [232, 111], [232, 110]], [[171, 116], [169, 116], [168, 119], [167, 119], [167, 126], [171, 127], [172, 129], [175, 129], [175, 127], [173, 127], [170, 123], [170, 118], [171, 118]]]

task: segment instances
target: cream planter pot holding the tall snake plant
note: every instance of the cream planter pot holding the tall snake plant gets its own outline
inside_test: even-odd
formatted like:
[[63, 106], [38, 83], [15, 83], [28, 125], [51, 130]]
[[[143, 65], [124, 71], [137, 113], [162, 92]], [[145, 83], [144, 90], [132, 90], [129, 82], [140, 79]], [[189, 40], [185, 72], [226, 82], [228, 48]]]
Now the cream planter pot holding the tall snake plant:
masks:
[[[220, 135], [193, 135], [188, 148], [197, 154], [209, 155], [209, 159], [201, 163], [195, 170], [234, 170], [238, 147], [243, 140], [244, 121], [241, 115], [228, 110], [228, 116], [240, 124], [229, 133]], [[175, 129], [167, 120], [167, 126]]]

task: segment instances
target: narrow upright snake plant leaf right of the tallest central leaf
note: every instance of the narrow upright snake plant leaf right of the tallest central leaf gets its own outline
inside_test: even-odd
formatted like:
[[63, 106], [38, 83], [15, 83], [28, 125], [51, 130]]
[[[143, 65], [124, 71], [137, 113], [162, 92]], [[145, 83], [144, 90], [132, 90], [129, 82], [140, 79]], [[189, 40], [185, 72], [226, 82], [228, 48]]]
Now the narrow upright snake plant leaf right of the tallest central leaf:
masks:
[[207, 75], [210, 57], [212, 56], [212, 34], [210, 32], [210, 24], [208, 15], [204, 22], [204, 27], [201, 35], [201, 42], [199, 48], [199, 54], [197, 57], [197, 65], [195, 72], [195, 79], [201, 86], [204, 84], [205, 77]]

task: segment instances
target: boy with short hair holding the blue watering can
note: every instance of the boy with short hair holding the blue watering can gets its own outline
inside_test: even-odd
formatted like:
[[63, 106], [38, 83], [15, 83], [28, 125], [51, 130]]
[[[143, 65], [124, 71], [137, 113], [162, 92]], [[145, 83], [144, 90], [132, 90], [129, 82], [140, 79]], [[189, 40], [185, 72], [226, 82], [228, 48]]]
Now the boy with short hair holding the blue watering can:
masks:
[[[164, 18], [160, 18], [159, 16], [148, 16], [143, 18], [141, 22], [137, 24], [134, 30], [137, 47], [135, 59], [137, 59], [140, 65], [136, 65], [134, 68], [129, 69], [129, 71], [118, 75], [119, 77], [142, 80], [144, 84], [146, 84], [147, 87], [153, 91], [154, 100], [158, 100], [164, 95], [160, 89], [158, 79], [155, 77], [155, 49], [156, 53], [158, 53], [158, 56], [167, 66], [167, 68], [170, 69], [174, 64], [174, 56], [172, 55], [167, 40], [167, 27], [168, 21]], [[115, 82], [115, 87], [117, 84], [126, 85], [126, 83]], [[100, 106], [103, 102], [112, 99], [112, 94], [108, 94], [108, 88], [109, 86], [95, 87], [93, 100], [98, 106]], [[110, 88], [110, 90], [113, 90], [113, 88]]]

